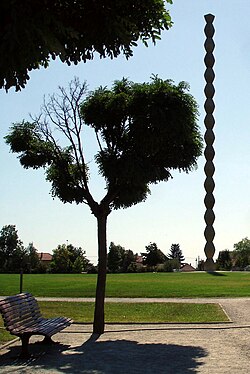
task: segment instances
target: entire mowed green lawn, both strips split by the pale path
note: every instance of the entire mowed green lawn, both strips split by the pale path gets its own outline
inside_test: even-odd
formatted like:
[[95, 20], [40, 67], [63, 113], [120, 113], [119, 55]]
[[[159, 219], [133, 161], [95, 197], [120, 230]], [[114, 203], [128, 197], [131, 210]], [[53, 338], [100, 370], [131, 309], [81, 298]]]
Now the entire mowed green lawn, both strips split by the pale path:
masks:
[[[0, 295], [19, 292], [18, 274], [0, 274]], [[36, 297], [94, 297], [96, 275], [24, 274], [23, 291]], [[250, 273], [144, 273], [108, 274], [107, 297], [246, 297], [250, 296]], [[39, 301], [45, 317], [65, 315], [75, 322], [92, 323], [92, 302]], [[211, 323], [227, 322], [218, 304], [106, 303], [106, 322], [116, 323]], [[12, 339], [0, 318], [0, 344]]]

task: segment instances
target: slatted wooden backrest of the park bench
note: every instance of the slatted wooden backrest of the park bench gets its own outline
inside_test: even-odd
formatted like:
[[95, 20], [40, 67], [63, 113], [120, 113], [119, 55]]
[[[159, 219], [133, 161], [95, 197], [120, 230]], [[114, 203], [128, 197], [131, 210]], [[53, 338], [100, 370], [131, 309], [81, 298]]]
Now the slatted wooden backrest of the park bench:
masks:
[[38, 303], [30, 293], [8, 296], [0, 300], [0, 312], [7, 330], [29, 325], [41, 317]]

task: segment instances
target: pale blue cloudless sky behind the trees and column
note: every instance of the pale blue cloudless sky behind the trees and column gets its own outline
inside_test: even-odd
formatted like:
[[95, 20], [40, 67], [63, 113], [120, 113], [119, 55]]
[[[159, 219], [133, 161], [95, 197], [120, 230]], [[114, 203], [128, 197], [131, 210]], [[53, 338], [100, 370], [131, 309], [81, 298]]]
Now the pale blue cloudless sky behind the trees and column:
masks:
[[[141, 43], [129, 60], [101, 59], [68, 67], [60, 61], [49, 68], [31, 72], [21, 92], [0, 90], [0, 229], [15, 225], [27, 246], [33, 242], [38, 252], [52, 253], [59, 244], [82, 247], [97, 262], [97, 225], [88, 206], [63, 204], [50, 195], [43, 170], [26, 170], [17, 155], [9, 152], [3, 137], [10, 126], [30, 114], [39, 114], [44, 95], [66, 87], [76, 76], [89, 90], [111, 87], [123, 77], [148, 82], [152, 74], [175, 83], [186, 81], [199, 105], [199, 126], [204, 134], [204, 15], [215, 16], [214, 97], [215, 117], [215, 239], [218, 253], [250, 235], [250, 6], [249, 0], [174, 0], [167, 4], [173, 27], [162, 34], [156, 46]], [[84, 139], [91, 165], [91, 191], [100, 201], [103, 181], [94, 165], [95, 143]], [[113, 211], [108, 218], [107, 244], [120, 244], [135, 253], [155, 242], [168, 254], [179, 243], [186, 262], [196, 265], [205, 259], [204, 246], [204, 156], [198, 169], [185, 174], [174, 172], [173, 179], [152, 186], [146, 202]]]

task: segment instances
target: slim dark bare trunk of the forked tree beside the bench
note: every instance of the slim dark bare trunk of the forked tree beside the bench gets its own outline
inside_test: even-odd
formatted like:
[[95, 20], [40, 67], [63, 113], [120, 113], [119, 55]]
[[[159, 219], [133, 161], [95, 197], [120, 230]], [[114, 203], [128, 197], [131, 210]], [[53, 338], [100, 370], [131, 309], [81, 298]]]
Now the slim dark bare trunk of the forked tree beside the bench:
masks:
[[95, 314], [93, 333], [104, 332], [104, 300], [107, 273], [107, 213], [99, 213], [98, 225], [98, 276], [96, 285]]

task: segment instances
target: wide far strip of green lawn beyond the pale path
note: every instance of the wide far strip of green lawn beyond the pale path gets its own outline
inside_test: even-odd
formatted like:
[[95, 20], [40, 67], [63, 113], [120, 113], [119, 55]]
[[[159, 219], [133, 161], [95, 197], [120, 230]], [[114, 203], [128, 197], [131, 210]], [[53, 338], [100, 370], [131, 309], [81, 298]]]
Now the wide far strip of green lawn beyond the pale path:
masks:
[[[250, 272], [108, 274], [107, 297], [246, 297]], [[24, 274], [34, 296], [94, 297], [93, 274]], [[0, 274], [0, 295], [19, 292], [18, 274]]]

